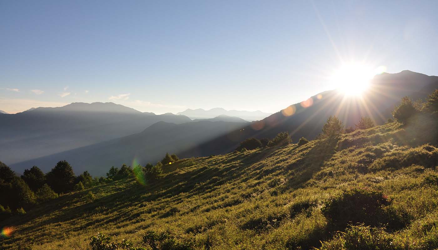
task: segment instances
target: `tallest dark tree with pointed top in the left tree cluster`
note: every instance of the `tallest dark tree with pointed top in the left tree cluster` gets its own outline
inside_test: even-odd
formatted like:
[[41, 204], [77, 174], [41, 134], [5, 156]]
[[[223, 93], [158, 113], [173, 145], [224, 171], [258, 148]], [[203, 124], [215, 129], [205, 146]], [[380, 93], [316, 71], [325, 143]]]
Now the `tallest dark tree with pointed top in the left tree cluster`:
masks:
[[74, 176], [71, 165], [64, 160], [58, 162], [56, 166], [47, 173], [46, 179], [47, 184], [49, 184], [53, 191], [60, 194], [73, 190], [76, 176]]

